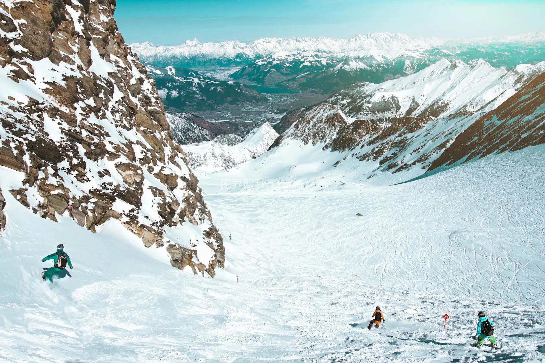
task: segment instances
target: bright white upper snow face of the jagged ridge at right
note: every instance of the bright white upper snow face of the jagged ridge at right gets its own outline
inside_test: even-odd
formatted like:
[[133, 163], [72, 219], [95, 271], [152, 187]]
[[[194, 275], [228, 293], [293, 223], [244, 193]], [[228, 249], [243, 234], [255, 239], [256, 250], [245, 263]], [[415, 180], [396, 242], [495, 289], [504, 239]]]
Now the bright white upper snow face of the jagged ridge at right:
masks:
[[404, 116], [486, 112], [543, 71], [545, 62], [506, 70], [482, 60], [468, 65], [442, 59], [397, 80], [356, 84], [332, 95], [328, 102], [341, 106], [352, 117], [377, 121], [383, 126], [388, 120]]

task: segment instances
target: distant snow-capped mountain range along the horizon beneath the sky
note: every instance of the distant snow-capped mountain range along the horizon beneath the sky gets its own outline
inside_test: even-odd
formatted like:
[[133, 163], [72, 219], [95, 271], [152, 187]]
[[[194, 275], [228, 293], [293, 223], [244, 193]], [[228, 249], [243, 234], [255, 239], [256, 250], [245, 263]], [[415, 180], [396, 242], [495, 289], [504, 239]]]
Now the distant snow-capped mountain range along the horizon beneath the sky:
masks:
[[545, 61], [545, 33], [443, 41], [374, 33], [350, 39], [263, 38], [250, 43], [186, 41], [179, 46], [133, 44], [155, 66], [239, 66], [230, 77], [245, 84], [331, 94], [358, 82], [381, 83], [420, 71], [440, 59], [499, 68]]

